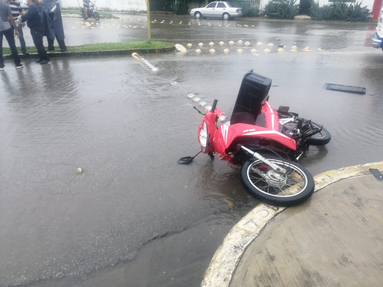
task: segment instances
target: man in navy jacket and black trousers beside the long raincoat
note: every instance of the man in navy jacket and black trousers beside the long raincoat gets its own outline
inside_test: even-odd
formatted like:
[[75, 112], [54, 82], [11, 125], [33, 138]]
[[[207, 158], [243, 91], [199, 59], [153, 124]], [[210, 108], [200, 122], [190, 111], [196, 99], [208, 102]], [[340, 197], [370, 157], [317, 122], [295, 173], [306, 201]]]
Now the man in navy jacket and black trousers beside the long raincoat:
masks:
[[39, 8], [37, 8], [34, 1], [37, 2], [37, 0], [26, 1], [26, 5], [28, 5], [28, 12], [26, 12], [24, 15], [18, 16], [18, 19], [21, 19], [21, 23], [26, 21], [26, 25], [29, 27], [29, 29], [31, 29], [33, 44], [39, 54], [39, 59], [36, 60], [36, 63], [47, 64], [47, 62], [49, 62], [49, 57], [43, 44], [43, 21], [41, 20]]

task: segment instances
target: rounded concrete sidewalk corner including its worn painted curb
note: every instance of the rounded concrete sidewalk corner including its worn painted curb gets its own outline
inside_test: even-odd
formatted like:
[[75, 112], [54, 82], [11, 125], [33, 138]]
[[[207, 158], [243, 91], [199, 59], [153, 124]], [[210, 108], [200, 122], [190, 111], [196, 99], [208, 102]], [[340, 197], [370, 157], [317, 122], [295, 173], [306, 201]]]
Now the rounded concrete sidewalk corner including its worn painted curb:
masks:
[[369, 168], [383, 171], [383, 161], [319, 174], [319, 192], [297, 207], [257, 206], [226, 236], [201, 286], [381, 286], [383, 181]]

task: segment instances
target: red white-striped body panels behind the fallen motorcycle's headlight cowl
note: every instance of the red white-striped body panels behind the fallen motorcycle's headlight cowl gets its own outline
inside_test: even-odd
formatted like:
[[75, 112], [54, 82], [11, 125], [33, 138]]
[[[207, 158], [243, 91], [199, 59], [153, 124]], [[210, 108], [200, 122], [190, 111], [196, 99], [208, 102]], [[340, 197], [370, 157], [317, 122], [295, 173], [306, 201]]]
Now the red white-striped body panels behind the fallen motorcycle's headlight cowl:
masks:
[[223, 160], [229, 160], [225, 151], [237, 137], [254, 137], [275, 140], [282, 145], [296, 150], [296, 142], [291, 137], [278, 131], [279, 117], [277, 112], [264, 101], [261, 112], [265, 114], [266, 127], [249, 124], [223, 124], [214, 134], [213, 144], [215, 151]]

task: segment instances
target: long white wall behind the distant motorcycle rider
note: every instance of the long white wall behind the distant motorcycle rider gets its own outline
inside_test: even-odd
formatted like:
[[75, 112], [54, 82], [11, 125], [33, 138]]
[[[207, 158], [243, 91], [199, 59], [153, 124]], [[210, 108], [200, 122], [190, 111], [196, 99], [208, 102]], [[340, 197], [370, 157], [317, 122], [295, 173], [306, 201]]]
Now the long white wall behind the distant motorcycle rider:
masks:
[[[93, 3], [94, 1], [91, 0]], [[155, 0], [152, 0], [155, 1]], [[145, 0], [95, 0], [97, 9], [113, 11], [146, 11]], [[83, 7], [82, 0], [61, 0], [62, 9]]]

